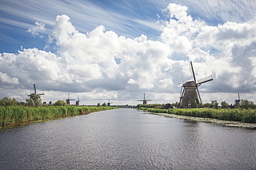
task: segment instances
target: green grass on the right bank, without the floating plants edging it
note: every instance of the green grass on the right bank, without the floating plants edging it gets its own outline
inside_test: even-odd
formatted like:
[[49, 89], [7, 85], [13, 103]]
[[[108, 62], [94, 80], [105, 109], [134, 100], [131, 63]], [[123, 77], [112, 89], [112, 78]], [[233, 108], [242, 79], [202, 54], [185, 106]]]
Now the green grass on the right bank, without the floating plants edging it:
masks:
[[152, 109], [143, 107], [139, 109], [155, 113], [216, 118], [219, 120], [240, 121], [242, 123], [256, 123], [256, 109]]

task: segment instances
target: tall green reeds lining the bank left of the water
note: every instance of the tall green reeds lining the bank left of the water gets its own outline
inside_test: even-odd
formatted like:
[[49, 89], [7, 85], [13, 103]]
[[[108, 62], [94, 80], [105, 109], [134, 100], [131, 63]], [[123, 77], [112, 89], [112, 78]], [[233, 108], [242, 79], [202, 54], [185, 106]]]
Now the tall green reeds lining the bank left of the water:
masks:
[[95, 111], [116, 109], [117, 107], [75, 107], [75, 106], [51, 106], [51, 107], [24, 107], [8, 106], [0, 107], [0, 127], [8, 125], [20, 125], [32, 123], [38, 120], [51, 120], [89, 114]]

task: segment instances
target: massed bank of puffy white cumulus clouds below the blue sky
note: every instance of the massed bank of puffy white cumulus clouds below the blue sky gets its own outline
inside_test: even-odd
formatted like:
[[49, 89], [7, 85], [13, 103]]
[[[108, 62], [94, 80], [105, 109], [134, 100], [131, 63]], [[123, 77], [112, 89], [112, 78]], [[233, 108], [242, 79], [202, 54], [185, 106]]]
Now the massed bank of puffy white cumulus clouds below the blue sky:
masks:
[[[150, 92], [151, 99], [172, 94], [170, 100], [176, 101], [181, 77], [190, 80], [188, 61], [192, 61], [197, 79], [214, 77], [200, 87], [203, 93], [255, 92], [256, 23], [210, 26], [192, 19], [187, 10], [176, 3], [163, 10], [167, 20], [159, 22], [158, 41], [143, 34], [134, 39], [119, 36], [103, 25], [82, 33], [67, 15], [59, 15], [49, 35], [57, 53], [36, 48], [3, 53], [0, 81], [20, 88], [36, 82], [42, 90], [80, 92], [86, 98], [131, 100]], [[36, 25], [32, 34], [44, 28]]]

